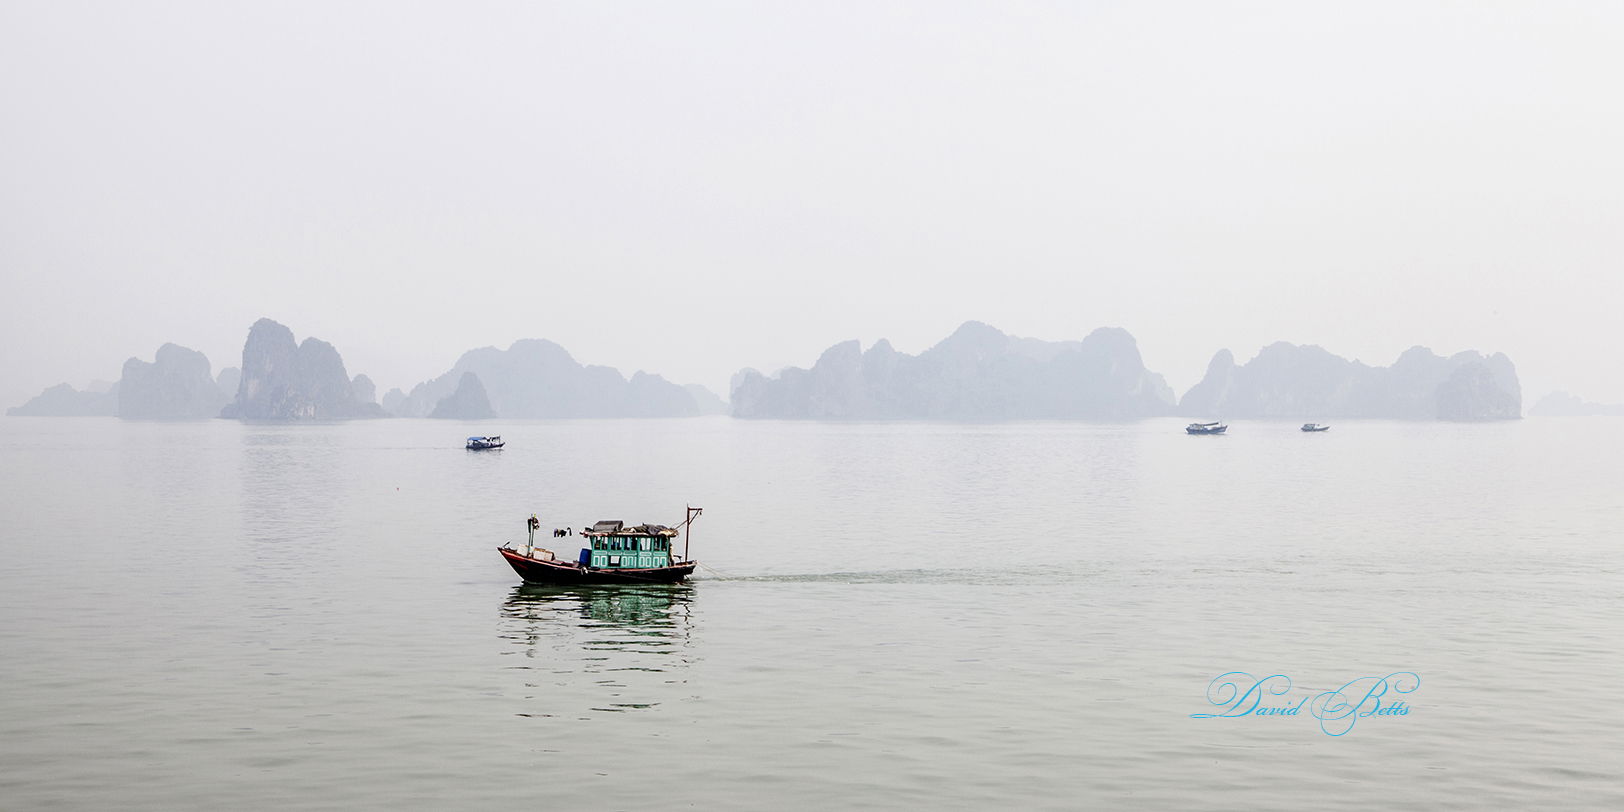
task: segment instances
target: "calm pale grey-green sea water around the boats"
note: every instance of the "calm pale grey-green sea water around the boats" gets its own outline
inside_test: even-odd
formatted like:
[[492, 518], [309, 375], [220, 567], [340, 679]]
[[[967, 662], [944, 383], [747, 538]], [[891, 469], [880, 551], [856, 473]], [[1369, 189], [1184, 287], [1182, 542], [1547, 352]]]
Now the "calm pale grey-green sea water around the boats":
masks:
[[1231, 432], [3, 419], [0, 809], [1624, 809], [1624, 421]]

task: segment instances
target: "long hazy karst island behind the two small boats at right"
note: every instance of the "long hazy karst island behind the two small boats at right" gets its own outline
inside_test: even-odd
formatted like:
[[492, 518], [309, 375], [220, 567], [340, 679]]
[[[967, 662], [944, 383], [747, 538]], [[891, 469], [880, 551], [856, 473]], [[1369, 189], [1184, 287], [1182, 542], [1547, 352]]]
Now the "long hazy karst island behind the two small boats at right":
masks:
[[1504, 354], [1440, 357], [1411, 348], [1390, 367], [1369, 367], [1317, 346], [1275, 343], [1237, 365], [1218, 351], [1207, 375], [1179, 400], [1190, 417], [1389, 417], [1489, 421], [1522, 416], [1522, 385]]

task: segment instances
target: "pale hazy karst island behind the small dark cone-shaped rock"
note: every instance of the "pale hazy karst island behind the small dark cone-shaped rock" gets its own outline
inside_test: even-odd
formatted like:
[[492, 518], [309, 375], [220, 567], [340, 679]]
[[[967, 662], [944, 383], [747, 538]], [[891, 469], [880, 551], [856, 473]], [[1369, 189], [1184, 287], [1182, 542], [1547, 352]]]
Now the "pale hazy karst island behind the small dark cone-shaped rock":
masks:
[[659, 375], [638, 372], [627, 380], [611, 367], [578, 364], [542, 339], [515, 341], [508, 349], [463, 352], [450, 372], [412, 387], [401, 400], [385, 396], [395, 414], [429, 416], [473, 372], [503, 417], [692, 417], [702, 412], [693, 395]]

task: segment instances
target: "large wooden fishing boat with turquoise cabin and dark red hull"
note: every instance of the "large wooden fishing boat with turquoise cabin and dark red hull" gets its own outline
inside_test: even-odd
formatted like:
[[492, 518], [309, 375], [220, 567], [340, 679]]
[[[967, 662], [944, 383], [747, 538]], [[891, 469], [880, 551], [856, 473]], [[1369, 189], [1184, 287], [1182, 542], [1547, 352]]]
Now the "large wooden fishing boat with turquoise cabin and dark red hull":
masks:
[[[693, 573], [698, 562], [689, 559], [689, 533], [703, 508], [690, 507], [682, 523], [635, 525], [624, 521], [599, 521], [581, 531], [586, 546], [575, 560], [564, 560], [552, 551], [536, 546], [536, 523], [529, 525], [529, 542], [516, 547], [513, 542], [497, 547], [502, 559], [525, 583], [590, 585], [590, 583], [669, 583]], [[677, 557], [676, 541], [682, 536], [682, 557]]]

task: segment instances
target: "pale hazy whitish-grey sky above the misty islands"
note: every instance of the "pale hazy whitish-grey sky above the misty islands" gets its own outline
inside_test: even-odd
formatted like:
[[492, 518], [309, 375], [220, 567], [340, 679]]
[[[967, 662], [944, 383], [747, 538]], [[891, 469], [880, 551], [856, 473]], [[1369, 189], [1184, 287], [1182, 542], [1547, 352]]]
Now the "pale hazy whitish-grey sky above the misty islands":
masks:
[[0, 406], [276, 318], [718, 391], [976, 318], [1624, 401], [1624, 3], [0, 0]]

